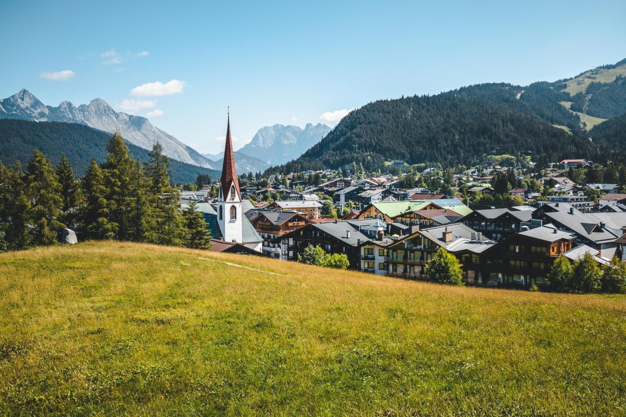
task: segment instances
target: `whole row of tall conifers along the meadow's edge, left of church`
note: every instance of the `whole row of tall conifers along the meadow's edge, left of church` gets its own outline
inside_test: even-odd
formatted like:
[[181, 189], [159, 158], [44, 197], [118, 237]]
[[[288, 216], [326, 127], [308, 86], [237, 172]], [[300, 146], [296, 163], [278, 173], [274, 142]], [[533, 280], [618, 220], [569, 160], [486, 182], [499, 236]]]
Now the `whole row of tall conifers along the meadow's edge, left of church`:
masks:
[[63, 229], [81, 240], [114, 239], [195, 249], [210, 247], [210, 230], [195, 203], [181, 210], [170, 159], [156, 143], [148, 161], [129, 155], [115, 133], [106, 161], [76, 180], [63, 154], [56, 167], [36, 149], [26, 169], [0, 163], [0, 249], [59, 242]]

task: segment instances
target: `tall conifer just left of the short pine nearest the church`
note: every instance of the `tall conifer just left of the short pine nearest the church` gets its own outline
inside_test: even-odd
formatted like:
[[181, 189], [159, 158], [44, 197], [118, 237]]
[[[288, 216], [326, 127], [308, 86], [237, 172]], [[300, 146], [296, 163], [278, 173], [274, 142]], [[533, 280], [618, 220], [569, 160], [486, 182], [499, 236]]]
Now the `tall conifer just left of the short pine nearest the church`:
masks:
[[146, 163], [151, 222], [146, 239], [158, 245], [182, 246], [187, 230], [178, 205], [180, 192], [170, 185], [169, 164], [160, 143], [153, 145]]

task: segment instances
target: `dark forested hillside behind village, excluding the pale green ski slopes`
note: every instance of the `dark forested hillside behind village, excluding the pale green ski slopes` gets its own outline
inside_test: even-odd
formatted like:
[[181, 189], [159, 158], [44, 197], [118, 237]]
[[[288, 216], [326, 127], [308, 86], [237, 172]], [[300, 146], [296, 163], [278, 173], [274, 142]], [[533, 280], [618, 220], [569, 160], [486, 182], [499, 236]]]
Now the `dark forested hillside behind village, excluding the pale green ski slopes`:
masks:
[[503, 153], [530, 154], [544, 163], [595, 155], [596, 144], [582, 134], [578, 116], [558, 104], [560, 94], [541, 83], [486, 84], [375, 101], [349, 113], [302, 157], [272, 171], [336, 168], [352, 161], [369, 169], [385, 159], [468, 165]]

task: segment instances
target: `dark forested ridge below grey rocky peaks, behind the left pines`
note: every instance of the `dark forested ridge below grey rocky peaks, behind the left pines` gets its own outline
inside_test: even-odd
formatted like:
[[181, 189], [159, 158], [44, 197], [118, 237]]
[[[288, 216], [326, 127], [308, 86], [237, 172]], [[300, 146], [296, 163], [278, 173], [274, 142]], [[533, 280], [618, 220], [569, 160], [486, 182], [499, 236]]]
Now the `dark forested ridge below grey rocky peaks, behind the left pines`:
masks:
[[[77, 123], [34, 122], [28, 120], [0, 119], [0, 161], [10, 165], [19, 160], [26, 167], [33, 151], [39, 148], [56, 164], [61, 152], [74, 168], [77, 177], [82, 177], [95, 158], [98, 163], [106, 160], [105, 146], [111, 133], [96, 130]], [[133, 158], [148, 160], [148, 150], [126, 141]], [[170, 159], [170, 169], [175, 182], [195, 182], [198, 174], [209, 174], [218, 178], [219, 171], [198, 167]]]

